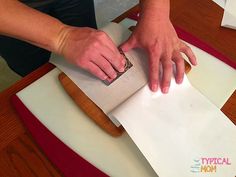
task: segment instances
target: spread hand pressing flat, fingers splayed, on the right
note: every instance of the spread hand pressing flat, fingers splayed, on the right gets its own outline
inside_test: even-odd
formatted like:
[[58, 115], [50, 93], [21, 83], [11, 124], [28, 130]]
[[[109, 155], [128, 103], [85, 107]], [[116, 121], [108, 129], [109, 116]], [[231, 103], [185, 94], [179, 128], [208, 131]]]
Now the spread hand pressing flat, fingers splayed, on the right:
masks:
[[121, 45], [124, 52], [132, 48], [143, 48], [148, 54], [149, 86], [152, 91], [158, 89], [159, 65], [163, 68], [161, 91], [168, 93], [173, 63], [177, 69], [176, 82], [180, 84], [183, 81], [185, 67], [181, 52], [188, 57], [191, 64], [197, 64], [192, 50], [178, 38], [169, 18], [145, 20], [138, 24], [130, 38]]

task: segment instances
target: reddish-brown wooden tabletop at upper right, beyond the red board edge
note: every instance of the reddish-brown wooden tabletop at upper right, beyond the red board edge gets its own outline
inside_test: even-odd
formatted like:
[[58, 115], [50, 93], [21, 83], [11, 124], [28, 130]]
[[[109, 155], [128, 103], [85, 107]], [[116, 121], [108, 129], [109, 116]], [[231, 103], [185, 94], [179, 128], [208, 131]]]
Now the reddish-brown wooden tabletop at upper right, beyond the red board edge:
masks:
[[[236, 31], [221, 27], [223, 9], [209, 0], [171, 0], [171, 21], [236, 62]], [[219, 71], [220, 72], [220, 71]]]

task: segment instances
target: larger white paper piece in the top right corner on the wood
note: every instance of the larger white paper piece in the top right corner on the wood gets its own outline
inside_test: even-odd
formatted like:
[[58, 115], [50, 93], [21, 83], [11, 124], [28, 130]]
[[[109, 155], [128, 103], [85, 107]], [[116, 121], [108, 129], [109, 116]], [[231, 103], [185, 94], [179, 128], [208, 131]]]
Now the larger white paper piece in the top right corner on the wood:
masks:
[[227, 0], [221, 26], [236, 29], [236, 1]]

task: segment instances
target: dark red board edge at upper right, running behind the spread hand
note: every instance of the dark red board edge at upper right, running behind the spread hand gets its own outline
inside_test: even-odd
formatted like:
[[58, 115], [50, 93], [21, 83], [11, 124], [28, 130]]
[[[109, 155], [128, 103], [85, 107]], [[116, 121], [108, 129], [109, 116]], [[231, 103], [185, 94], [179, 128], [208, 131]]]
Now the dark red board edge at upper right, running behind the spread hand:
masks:
[[[132, 20], [138, 20], [139, 18], [139, 13], [134, 13], [129, 16], [130, 19]], [[223, 61], [224, 63], [228, 64], [229, 66], [233, 67], [236, 69], [236, 62], [233, 62], [232, 59], [229, 57], [225, 56], [221, 52], [217, 51], [213, 47], [211, 47], [209, 44], [205, 43], [204, 41], [196, 38], [192, 34], [186, 32], [184, 29], [174, 26], [177, 35], [179, 36], [180, 39], [198, 47], [199, 49], [204, 50], [205, 52], [209, 53], [210, 55], [218, 58], [219, 60]]]

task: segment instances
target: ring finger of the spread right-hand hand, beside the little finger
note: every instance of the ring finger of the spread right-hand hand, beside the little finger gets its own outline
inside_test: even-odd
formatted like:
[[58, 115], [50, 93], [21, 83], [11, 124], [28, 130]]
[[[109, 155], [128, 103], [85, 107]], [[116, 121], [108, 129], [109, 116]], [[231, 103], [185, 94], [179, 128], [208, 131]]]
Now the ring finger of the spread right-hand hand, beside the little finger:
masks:
[[175, 52], [172, 60], [176, 65], [175, 81], [177, 84], [181, 84], [183, 82], [185, 71], [184, 59], [179, 52]]

